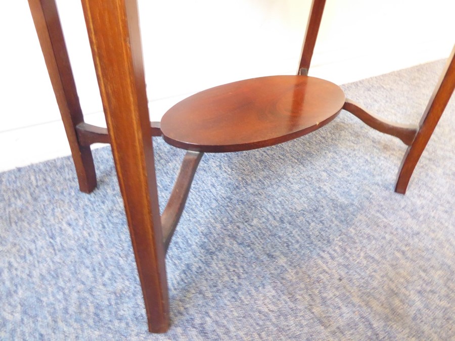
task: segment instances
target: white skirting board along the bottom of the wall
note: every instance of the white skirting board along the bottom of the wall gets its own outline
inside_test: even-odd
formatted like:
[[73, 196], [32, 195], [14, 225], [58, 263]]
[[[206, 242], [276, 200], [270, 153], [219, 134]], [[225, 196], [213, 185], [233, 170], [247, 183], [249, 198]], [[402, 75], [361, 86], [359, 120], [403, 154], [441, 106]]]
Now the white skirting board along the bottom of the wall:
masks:
[[[310, 76], [330, 80], [337, 84], [353, 82], [387, 72], [446, 58], [452, 46], [438, 41], [408, 45], [408, 48], [390, 48], [384, 51], [363, 50], [363, 53], [346, 48], [345, 51], [315, 51]], [[399, 54], [396, 51], [400, 51]], [[290, 65], [290, 63], [284, 63]], [[292, 65], [292, 63], [291, 63]], [[288, 70], [285, 74], [292, 74]], [[164, 112], [187, 94], [178, 94], [167, 99], [151, 100], [149, 103], [152, 121], [159, 121]], [[422, 108], [423, 110], [424, 108]], [[101, 111], [85, 115], [91, 124], [105, 126]], [[94, 148], [97, 146], [95, 145]], [[61, 156], [70, 155], [63, 124], [60, 121], [26, 126], [0, 132], [0, 171], [26, 166]]]

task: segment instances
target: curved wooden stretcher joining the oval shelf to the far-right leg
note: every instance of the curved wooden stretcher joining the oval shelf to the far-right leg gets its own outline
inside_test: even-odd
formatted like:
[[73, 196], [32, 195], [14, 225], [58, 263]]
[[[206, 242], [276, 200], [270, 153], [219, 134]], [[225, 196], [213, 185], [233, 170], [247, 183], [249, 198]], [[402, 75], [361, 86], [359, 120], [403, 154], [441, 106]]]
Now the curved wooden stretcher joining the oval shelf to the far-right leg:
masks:
[[416, 136], [419, 128], [416, 125], [398, 124], [384, 121], [351, 100], [346, 100], [343, 109], [350, 112], [373, 129], [376, 129], [384, 134], [398, 137], [406, 145], [410, 145], [414, 141], [414, 137]]

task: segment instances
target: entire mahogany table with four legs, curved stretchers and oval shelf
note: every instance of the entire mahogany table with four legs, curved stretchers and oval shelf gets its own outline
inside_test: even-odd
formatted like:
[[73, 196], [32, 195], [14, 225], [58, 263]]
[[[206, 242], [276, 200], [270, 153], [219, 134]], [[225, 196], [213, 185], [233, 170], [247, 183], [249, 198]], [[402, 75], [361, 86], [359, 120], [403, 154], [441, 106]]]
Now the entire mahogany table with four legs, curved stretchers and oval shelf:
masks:
[[[325, 5], [325, 0], [314, 0], [299, 76], [261, 77], [202, 91], [171, 108], [160, 127], [148, 117], [136, 0], [82, 0], [106, 129], [83, 121], [55, 0], [29, 0], [29, 4], [82, 191], [96, 186], [89, 145], [112, 145], [151, 332], [165, 332], [169, 326], [165, 253], [203, 152], [281, 143], [324, 126], [344, 108], [410, 144], [396, 186], [404, 193], [455, 86], [454, 47], [417, 132], [415, 127], [382, 121], [345, 100], [337, 85], [305, 76]], [[161, 135], [189, 152], [160, 217], [151, 137]]]

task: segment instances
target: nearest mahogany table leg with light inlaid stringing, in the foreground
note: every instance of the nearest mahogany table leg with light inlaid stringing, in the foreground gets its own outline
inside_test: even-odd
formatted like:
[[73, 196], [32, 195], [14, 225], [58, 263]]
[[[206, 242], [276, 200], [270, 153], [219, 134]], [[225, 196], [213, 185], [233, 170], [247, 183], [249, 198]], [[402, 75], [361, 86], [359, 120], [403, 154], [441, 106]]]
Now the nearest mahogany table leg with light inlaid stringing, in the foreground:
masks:
[[169, 303], [136, 0], [82, 0], [147, 311], [165, 332]]

